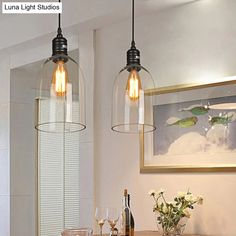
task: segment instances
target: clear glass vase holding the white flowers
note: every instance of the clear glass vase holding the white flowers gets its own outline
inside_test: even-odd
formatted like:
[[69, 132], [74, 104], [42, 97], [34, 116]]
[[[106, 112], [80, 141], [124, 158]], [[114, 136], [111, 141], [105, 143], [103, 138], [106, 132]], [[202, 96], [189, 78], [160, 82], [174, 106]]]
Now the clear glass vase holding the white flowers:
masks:
[[187, 224], [187, 217], [182, 217], [178, 222], [168, 219], [165, 223], [160, 223], [158, 216], [156, 217], [157, 227], [162, 236], [182, 236]]

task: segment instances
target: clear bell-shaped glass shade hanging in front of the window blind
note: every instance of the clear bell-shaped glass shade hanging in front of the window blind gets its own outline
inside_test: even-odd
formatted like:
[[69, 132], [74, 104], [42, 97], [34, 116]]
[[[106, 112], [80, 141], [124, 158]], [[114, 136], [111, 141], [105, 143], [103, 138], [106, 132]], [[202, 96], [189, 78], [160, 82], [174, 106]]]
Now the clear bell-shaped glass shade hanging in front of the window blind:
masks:
[[48, 58], [37, 89], [37, 130], [61, 133], [86, 128], [84, 79], [72, 58], [64, 54]]

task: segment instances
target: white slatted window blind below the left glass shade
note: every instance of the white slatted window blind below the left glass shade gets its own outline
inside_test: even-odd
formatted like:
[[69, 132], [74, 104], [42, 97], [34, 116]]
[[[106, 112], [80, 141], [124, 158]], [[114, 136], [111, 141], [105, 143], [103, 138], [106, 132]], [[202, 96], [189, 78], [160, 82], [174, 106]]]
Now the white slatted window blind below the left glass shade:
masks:
[[59, 236], [78, 226], [79, 132], [38, 132], [39, 236]]

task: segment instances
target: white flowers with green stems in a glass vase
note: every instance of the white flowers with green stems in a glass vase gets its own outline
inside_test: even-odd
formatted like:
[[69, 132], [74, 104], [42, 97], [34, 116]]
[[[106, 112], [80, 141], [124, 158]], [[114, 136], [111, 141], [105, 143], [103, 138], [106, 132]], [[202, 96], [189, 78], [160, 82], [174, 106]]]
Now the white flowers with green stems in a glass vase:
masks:
[[156, 213], [157, 225], [161, 228], [163, 235], [181, 235], [186, 225], [187, 218], [191, 214], [195, 204], [202, 204], [202, 196], [194, 196], [189, 191], [178, 192], [174, 201], [168, 202], [164, 196], [164, 190], [150, 190], [149, 195], [153, 197], [155, 204], [153, 212]]

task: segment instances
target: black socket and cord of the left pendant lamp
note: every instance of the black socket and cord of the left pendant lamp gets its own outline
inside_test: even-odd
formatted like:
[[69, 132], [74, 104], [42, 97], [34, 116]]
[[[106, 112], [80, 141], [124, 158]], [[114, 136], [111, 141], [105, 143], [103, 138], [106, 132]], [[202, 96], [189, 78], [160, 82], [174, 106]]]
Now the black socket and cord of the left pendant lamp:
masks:
[[[61, 0], [59, 0], [61, 2]], [[68, 55], [67, 54], [67, 40], [62, 35], [62, 29], [61, 29], [61, 14], [58, 14], [58, 29], [57, 29], [57, 36], [52, 40], [52, 56], [55, 55]], [[65, 61], [65, 58], [55, 59], [54, 62], [57, 62], [58, 60]]]

